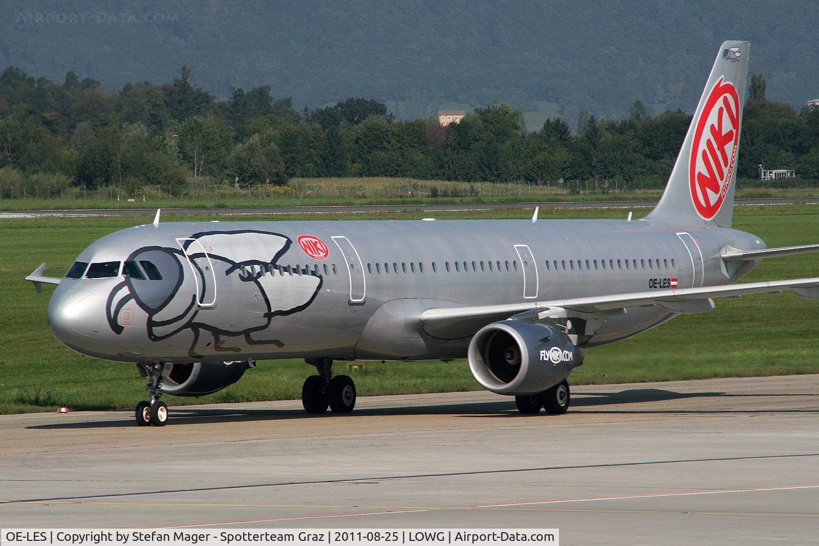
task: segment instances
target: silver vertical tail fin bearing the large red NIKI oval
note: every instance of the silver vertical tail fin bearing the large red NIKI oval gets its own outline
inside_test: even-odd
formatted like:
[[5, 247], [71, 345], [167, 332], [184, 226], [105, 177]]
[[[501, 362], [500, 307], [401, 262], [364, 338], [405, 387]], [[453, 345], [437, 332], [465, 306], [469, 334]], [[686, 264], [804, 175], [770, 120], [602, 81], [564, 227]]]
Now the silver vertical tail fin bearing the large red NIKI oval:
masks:
[[723, 42], [663, 197], [647, 220], [731, 227], [749, 42]]

